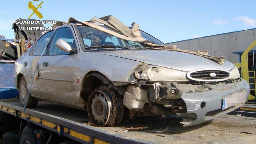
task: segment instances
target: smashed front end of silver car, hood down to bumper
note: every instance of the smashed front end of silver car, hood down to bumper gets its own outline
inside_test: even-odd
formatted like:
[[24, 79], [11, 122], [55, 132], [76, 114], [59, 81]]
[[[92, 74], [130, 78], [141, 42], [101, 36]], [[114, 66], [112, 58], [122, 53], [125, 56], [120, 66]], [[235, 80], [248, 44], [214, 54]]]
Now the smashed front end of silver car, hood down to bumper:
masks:
[[105, 55], [138, 61], [136, 81], [123, 104], [134, 115], [179, 114], [184, 127], [197, 125], [242, 106], [250, 91], [232, 63], [222, 65], [179, 51], [112, 51]]

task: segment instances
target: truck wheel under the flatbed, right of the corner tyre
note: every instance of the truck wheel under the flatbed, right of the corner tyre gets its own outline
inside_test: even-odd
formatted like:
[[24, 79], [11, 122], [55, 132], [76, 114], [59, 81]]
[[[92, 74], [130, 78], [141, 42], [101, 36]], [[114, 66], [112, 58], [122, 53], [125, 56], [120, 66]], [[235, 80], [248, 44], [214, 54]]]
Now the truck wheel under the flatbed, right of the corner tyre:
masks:
[[19, 144], [37, 144], [34, 128], [31, 125], [27, 125], [22, 130]]

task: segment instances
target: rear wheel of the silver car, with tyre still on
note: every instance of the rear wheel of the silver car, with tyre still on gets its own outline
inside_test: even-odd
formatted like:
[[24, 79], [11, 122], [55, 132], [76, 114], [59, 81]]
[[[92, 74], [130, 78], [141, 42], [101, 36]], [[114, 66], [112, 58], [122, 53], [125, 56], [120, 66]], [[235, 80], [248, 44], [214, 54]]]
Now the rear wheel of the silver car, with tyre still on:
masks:
[[[25, 106], [26, 97], [27, 97], [28, 92], [29, 92], [29, 90], [27, 88], [26, 80], [25, 80], [24, 76], [22, 76], [19, 81], [19, 102], [21, 103], [22, 106]], [[36, 107], [37, 103], [38, 103], [38, 100], [31, 97], [31, 95], [29, 94], [29, 98], [28, 98], [26, 107], [34, 108], [34, 107]]]

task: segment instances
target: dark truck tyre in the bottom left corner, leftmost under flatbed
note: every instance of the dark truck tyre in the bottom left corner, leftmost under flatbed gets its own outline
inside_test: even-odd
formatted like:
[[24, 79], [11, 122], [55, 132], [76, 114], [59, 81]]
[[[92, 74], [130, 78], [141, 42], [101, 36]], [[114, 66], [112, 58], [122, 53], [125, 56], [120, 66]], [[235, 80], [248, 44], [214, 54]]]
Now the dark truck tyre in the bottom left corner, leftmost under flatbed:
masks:
[[3, 144], [19, 144], [19, 131], [8, 131], [3, 134]]

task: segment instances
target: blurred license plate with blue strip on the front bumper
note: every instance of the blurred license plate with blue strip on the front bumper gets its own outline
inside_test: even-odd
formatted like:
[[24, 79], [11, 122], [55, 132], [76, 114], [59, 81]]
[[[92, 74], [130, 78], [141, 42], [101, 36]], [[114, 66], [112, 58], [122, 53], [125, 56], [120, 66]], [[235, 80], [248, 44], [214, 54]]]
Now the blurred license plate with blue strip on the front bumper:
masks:
[[232, 95], [229, 95], [223, 98], [222, 110], [227, 109], [230, 106], [234, 106], [238, 103], [241, 103], [245, 100], [246, 100], [245, 90], [239, 91], [237, 93], [233, 93]]

